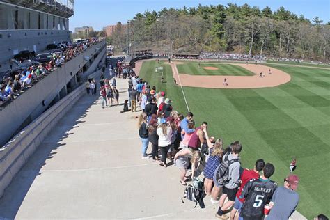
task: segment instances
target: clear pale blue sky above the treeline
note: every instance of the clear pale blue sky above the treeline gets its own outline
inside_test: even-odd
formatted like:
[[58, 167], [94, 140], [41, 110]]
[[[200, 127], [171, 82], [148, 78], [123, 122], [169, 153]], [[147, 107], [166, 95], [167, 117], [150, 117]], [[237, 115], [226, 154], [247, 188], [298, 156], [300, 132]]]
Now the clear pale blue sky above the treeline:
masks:
[[272, 10], [277, 10], [283, 6], [297, 15], [304, 15], [308, 19], [320, 17], [324, 23], [330, 21], [330, 1], [329, 0], [251, 0], [251, 1], [214, 1], [214, 0], [75, 0], [74, 15], [70, 17], [70, 30], [74, 31], [77, 26], [92, 26], [96, 31], [102, 30], [104, 26], [116, 24], [117, 22], [127, 23], [137, 13], [146, 10], [159, 11], [162, 8], [182, 8], [182, 6], [192, 7], [236, 3], [242, 6], [248, 3], [250, 6], [258, 6], [260, 10], [269, 6]]

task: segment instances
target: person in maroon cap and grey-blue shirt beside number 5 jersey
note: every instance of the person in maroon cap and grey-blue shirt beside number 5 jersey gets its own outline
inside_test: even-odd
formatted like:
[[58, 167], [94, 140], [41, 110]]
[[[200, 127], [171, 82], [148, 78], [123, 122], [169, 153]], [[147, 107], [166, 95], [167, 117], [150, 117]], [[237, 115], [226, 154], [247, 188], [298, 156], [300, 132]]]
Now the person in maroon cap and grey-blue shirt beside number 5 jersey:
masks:
[[269, 212], [267, 220], [289, 219], [291, 214], [296, 210], [299, 203], [299, 194], [297, 188], [299, 184], [299, 177], [294, 174], [288, 175], [284, 179], [284, 186], [278, 187], [273, 194], [272, 209]]

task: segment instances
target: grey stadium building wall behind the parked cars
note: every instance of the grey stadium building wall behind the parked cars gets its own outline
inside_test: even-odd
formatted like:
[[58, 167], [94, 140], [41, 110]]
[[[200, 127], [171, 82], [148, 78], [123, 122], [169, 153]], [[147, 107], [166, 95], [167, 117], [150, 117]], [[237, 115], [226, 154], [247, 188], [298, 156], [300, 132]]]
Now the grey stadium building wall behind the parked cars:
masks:
[[54, 42], [70, 41], [70, 31], [61, 30], [0, 30], [0, 71], [8, 69], [9, 60], [28, 49], [42, 52]]

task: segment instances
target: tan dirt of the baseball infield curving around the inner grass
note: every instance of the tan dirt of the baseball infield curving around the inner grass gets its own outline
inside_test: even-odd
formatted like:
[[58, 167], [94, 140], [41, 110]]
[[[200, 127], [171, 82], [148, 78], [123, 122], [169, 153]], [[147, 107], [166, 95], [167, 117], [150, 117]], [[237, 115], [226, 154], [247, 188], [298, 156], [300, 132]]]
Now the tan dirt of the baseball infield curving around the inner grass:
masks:
[[[198, 87], [198, 88], [267, 88], [286, 84], [290, 81], [290, 74], [269, 68], [265, 65], [231, 63], [239, 65], [249, 70], [255, 75], [253, 76], [198, 76], [189, 74], [179, 74], [176, 63], [171, 63], [173, 77], [182, 86]], [[271, 74], [269, 74], [269, 70]], [[260, 77], [260, 72], [265, 77]], [[179, 77], [180, 76], [180, 77]], [[228, 86], [223, 85], [223, 80], [227, 79]]]

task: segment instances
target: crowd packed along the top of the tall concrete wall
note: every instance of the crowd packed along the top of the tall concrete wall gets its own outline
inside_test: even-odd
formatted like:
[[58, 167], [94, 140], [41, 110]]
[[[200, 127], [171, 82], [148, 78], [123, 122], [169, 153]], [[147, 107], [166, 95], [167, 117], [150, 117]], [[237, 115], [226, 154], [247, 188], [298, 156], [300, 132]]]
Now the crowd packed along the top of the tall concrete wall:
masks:
[[10, 70], [10, 74], [2, 79], [0, 106], [3, 102], [13, 100], [19, 96], [19, 93], [24, 89], [33, 86], [37, 81], [50, 74], [57, 68], [61, 68], [66, 62], [70, 61], [75, 56], [83, 53], [92, 45], [100, 42], [101, 38], [91, 38], [79, 44], [68, 44], [62, 50], [56, 50], [51, 53], [51, 60], [46, 63], [38, 63], [31, 61], [20, 61], [24, 65], [19, 65], [19, 68]]

